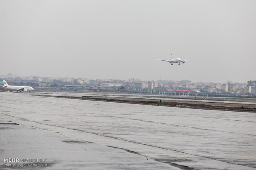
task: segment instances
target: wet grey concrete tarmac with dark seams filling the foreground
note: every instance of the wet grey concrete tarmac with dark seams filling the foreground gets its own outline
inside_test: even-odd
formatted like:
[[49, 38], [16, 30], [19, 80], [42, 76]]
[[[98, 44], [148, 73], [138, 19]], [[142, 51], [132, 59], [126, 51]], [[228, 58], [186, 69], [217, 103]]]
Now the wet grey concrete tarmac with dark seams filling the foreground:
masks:
[[0, 169], [256, 169], [255, 113], [0, 96]]

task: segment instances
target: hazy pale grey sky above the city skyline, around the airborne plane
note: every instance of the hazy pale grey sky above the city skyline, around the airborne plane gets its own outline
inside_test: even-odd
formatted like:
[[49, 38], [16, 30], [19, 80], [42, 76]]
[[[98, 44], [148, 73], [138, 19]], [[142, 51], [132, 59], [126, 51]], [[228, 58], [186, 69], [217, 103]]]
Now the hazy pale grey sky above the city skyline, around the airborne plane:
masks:
[[[195, 59], [178, 66], [154, 60]], [[255, 0], [0, 0], [0, 74], [256, 79]]]

